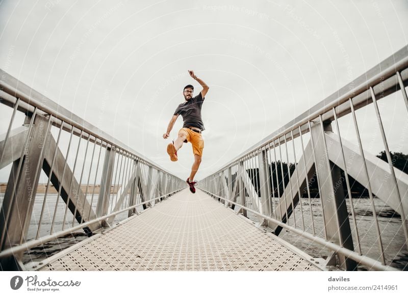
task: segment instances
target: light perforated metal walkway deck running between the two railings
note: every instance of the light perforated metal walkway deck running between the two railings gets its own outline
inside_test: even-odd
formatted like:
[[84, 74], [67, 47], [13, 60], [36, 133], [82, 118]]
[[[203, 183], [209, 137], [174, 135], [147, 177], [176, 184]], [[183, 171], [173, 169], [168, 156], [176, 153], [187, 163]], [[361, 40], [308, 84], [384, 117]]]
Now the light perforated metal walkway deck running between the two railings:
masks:
[[41, 270], [319, 270], [245, 220], [185, 189]]

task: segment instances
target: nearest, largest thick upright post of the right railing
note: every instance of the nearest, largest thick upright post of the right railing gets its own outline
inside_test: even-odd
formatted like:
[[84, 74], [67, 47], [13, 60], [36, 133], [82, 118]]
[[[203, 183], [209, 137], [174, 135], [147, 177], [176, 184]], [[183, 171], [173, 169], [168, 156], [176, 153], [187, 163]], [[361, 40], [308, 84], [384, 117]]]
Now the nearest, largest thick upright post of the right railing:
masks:
[[[328, 159], [324, 133], [332, 132], [330, 123], [314, 123], [311, 129], [311, 137], [316, 154], [315, 168], [320, 181], [320, 201], [322, 203], [323, 221], [327, 232], [327, 241], [334, 242], [339, 246], [354, 250], [351, 236], [348, 212], [343, 192], [343, 184], [339, 167]], [[336, 184], [336, 190], [334, 188]], [[345, 270], [355, 270], [356, 262], [346, 258], [344, 255], [337, 255], [340, 268]], [[330, 259], [330, 258], [329, 258]], [[328, 261], [327, 261], [328, 263]]]

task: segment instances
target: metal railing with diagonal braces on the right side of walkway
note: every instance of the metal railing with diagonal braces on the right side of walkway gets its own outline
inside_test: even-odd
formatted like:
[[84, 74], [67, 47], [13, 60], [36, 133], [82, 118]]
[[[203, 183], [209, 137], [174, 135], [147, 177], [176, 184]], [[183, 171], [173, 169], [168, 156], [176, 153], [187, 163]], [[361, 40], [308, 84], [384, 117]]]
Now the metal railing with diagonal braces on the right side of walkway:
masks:
[[[408, 133], [407, 68], [404, 47], [200, 181], [199, 188], [304, 251], [326, 257], [327, 267], [406, 268], [395, 268], [394, 261], [408, 256], [408, 167], [394, 166], [404, 154], [390, 151], [387, 136]], [[387, 100], [400, 106], [397, 124], [395, 114], [380, 112]], [[377, 135], [363, 147], [374, 128]], [[382, 153], [376, 157], [366, 147], [377, 142]]]

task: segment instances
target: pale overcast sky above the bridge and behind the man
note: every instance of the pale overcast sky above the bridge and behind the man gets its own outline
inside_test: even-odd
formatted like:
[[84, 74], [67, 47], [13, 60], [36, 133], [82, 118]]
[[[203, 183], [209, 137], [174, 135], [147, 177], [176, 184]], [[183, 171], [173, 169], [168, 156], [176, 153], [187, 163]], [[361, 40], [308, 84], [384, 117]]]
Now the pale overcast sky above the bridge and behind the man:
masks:
[[172, 163], [162, 134], [188, 69], [210, 85], [199, 180], [408, 44], [403, 0], [0, 3], [0, 68], [182, 179], [191, 144]]

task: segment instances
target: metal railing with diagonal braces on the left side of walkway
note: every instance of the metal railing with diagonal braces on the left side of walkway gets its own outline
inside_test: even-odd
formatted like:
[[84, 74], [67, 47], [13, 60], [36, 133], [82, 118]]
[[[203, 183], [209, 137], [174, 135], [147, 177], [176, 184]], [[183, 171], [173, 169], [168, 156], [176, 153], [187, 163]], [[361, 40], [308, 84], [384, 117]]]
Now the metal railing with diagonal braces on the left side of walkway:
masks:
[[130, 147], [0, 73], [1, 119], [10, 116], [7, 132], [0, 135], [0, 170], [9, 172], [0, 191], [0, 270], [23, 268], [22, 253], [30, 248], [79, 229], [92, 235], [186, 187]]

